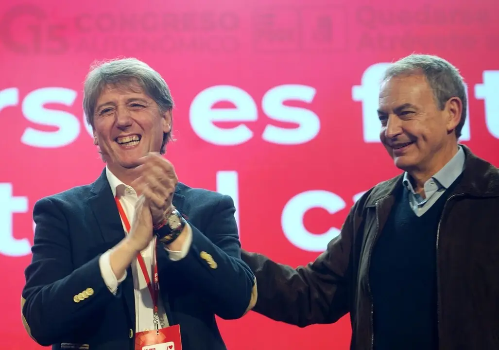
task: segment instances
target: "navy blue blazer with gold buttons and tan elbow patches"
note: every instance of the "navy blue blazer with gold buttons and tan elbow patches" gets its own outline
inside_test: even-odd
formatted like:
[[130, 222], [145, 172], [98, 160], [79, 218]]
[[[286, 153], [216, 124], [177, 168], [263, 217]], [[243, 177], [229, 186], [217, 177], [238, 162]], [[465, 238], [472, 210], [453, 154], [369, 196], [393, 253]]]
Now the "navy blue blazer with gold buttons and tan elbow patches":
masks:
[[[170, 260], [158, 242], [160, 293], [168, 321], [180, 325], [185, 350], [226, 349], [215, 315], [238, 319], [256, 302], [254, 275], [241, 260], [234, 202], [179, 183], [173, 204], [188, 218], [193, 240], [179, 261]], [[29, 336], [52, 349], [133, 350], [131, 269], [116, 296], [99, 269], [101, 254], [125, 237], [105, 169], [93, 184], [37, 201], [33, 218], [32, 261], [21, 298]], [[80, 293], [86, 297], [82, 301]]]

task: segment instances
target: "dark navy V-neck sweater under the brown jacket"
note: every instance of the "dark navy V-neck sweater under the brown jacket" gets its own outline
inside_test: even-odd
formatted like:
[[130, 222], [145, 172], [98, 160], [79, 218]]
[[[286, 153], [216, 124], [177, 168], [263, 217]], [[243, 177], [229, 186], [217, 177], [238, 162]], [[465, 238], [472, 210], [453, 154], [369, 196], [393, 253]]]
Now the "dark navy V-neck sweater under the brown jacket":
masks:
[[437, 230], [452, 186], [421, 217], [403, 187], [371, 256], [375, 350], [437, 350]]

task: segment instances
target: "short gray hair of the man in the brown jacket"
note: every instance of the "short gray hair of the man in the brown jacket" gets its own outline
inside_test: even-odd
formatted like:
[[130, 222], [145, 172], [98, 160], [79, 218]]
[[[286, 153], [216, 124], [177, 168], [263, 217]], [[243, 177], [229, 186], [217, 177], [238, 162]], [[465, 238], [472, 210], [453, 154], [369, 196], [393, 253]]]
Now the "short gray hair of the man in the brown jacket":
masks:
[[468, 98], [464, 79], [454, 65], [438, 56], [411, 54], [392, 63], [386, 70], [383, 81], [394, 76], [421, 73], [430, 84], [440, 110], [445, 108], [452, 97], [459, 97], [463, 102], [461, 120], [455, 130], [456, 137], [459, 138], [466, 121]]

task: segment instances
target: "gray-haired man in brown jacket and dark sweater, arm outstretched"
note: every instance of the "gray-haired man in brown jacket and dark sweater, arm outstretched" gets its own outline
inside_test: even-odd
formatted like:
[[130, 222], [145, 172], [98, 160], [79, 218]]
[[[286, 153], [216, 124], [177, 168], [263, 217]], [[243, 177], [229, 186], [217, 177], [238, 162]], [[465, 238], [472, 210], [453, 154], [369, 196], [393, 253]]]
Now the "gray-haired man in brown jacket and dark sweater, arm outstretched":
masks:
[[446, 60], [393, 63], [378, 115], [403, 173], [367, 191], [307, 266], [243, 251], [253, 311], [299, 327], [350, 313], [352, 350], [499, 349], [499, 169], [458, 143], [466, 106]]

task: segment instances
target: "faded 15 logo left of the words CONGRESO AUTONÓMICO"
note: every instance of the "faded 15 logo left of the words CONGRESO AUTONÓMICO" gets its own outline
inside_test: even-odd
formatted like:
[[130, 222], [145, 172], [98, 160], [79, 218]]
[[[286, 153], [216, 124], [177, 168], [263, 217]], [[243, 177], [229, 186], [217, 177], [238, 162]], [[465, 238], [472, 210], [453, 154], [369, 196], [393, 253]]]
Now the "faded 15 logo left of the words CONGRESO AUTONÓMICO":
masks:
[[69, 47], [65, 32], [64, 24], [32, 4], [10, 7], [0, 17], [0, 41], [19, 54], [62, 54]]

